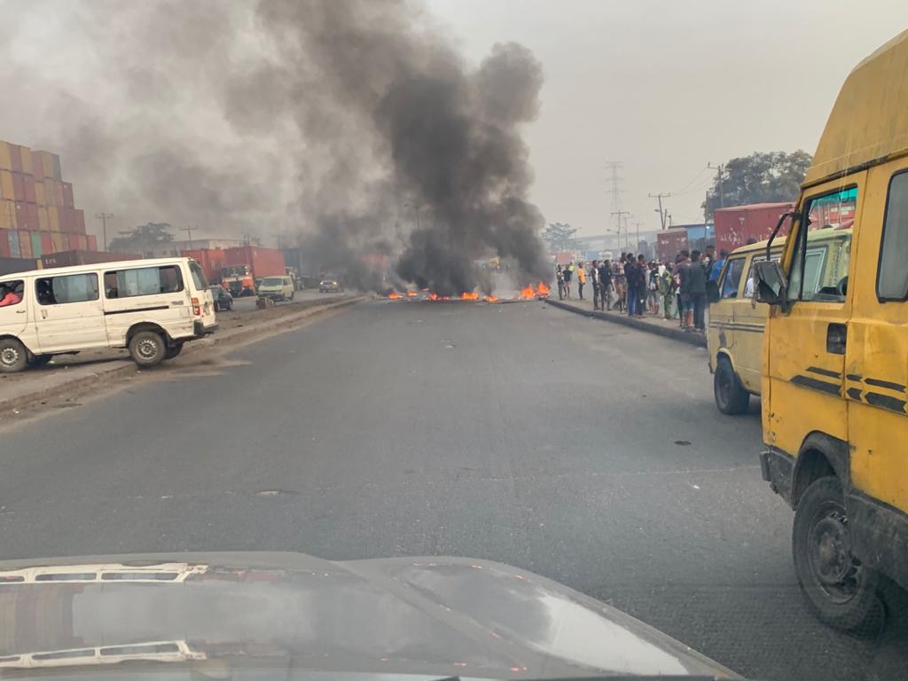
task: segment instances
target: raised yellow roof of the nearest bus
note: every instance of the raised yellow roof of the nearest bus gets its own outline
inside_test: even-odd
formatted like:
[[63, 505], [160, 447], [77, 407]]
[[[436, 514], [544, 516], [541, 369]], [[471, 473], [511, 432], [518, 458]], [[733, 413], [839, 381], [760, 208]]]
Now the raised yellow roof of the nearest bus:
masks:
[[908, 153], [908, 31], [845, 79], [804, 185], [903, 153]]

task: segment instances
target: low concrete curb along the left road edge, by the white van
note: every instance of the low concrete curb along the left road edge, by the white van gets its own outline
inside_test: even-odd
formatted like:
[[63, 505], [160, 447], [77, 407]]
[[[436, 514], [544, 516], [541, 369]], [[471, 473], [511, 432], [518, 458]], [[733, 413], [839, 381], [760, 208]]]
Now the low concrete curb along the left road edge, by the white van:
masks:
[[[290, 327], [298, 321], [302, 321], [308, 317], [313, 317], [317, 314], [321, 314], [331, 310], [337, 310], [339, 308], [347, 307], [349, 305], [354, 305], [360, 301], [366, 300], [365, 296], [356, 296], [354, 298], [348, 298], [341, 301], [325, 301], [324, 303], [318, 303], [315, 305], [310, 305], [304, 310], [296, 312], [294, 314], [288, 314], [283, 317], [278, 317], [269, 321], [262, 321], [262, 323], [252, 324], [248, 327], [240, 327], [236, 330], [231, 330], [225, 332], [222, 336], [214, 335], [212, 338], [205, 338], [199, 341], [193, 341], [191, 344], [186, 346], [186, 350], [183, 350], [183, 354], [191, 354], [192, 352], [198, 352], [200, 350], [207, 350], [209, 348], [214, 348], [217, 346], [227, 346], [238, 344], [243, 341], [248, 341], [252, 337], [259, 335], [266, 331], [274, 331], [280, 327], [287, 326], [288, 331]], [[133, 360], [114, 360], [111, 362], [112, 366], [105, 367], [97, 371], [93, 371], [90, 374], [79, 376], [73, 380], [64, 380], [62, 383], [56, 383], [52, 386], [48, 386], [44, 389], [35, 390], [35, 392], [29, 392], [25, 395], [18, 395], [12, 398], [0, 398], [0, 414], [7, 411], [23, 409], [29, 405], [34, 404], [35, 402], [41, 400], [48, 400], [55, 396], [60, 395], [60, 393], [70, 391], [70, 390], [83, 390], [89, 386], [106, 383], [110, 380], [115, 380], [122, 378], [124, 376], [130, 376], [135, 373], [141, 372], [134, 363]]]

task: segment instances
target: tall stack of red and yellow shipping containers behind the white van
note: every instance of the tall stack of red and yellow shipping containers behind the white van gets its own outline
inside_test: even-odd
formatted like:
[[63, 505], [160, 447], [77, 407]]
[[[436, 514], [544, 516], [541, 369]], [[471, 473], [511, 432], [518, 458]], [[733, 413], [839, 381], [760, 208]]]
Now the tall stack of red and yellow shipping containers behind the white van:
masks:
[[60, 157], [0, 142], [0, 257], [38, 259], [45, 253], [96, 251], [64, 182]]

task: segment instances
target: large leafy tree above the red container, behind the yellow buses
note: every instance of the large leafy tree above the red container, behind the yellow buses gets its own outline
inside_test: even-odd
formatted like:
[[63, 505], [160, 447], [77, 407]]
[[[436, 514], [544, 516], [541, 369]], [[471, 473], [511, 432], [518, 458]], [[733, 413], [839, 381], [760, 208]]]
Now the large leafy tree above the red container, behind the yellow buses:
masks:
[[801, 150], [793, 153], [755, 152], [733, 158], [722, 169], [721, 199], [720, 178], [717, 177], [701, 207], [705, 209], [708, 219], [713, 217], [713, 212], [722, 203], [730, 207], [745, 203], [795, 201], [812, 160], [809, 153]]

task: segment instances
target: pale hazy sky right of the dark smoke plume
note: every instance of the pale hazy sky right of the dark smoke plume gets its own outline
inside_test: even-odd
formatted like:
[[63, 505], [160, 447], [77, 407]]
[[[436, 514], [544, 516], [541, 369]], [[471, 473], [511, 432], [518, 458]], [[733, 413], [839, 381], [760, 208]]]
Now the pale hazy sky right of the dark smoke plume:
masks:
[[[702, 222], [706, 163], [814, 153], [845, 75], [908, 28], [906, 0], [429, 0], [471, 59], [513, 40], [542, 62], [528, 128], [549, 222], [614, 226], [607, 161], [624, 163], [630, 222]], [[633, 226], [631, 227], [633, 230]]]

